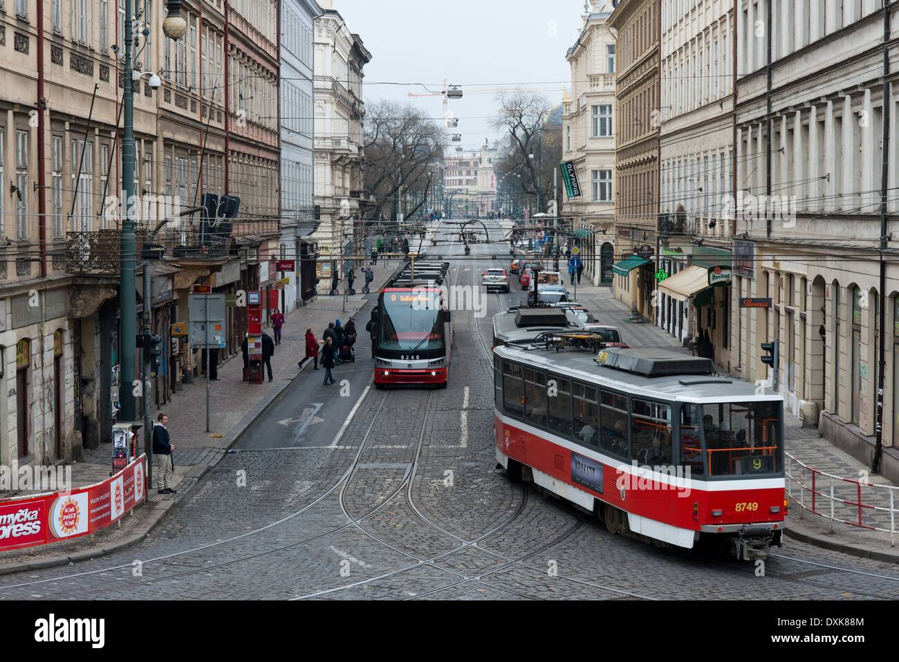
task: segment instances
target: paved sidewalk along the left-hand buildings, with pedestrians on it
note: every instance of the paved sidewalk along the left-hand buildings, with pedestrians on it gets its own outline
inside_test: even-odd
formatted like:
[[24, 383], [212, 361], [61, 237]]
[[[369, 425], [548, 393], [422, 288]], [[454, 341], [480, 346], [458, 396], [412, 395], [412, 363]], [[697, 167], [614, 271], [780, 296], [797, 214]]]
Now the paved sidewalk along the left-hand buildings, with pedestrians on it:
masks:
[[[0, 575], [23, 572], [29, 569], [51, 568], [68, 565], [85, 559], [94, 559], [121, 550], [143, 540], [196, 482], [225, 455], [227, 449], [254, 420], [260, 416], [274, 398], [298, 376], [297, 363], [306, 355], [305, 334], [312, 327], [321, 337], [329, 322], [340, 319], [342, 323], [357, 315], [366, 304], [378, 297], [378, 289], [394, 273], [396, 260], [372, 267], [375, 279], [370, 294], [347, 297], [319, 295], [303, 308], [292, 311], [282, 328], [281, 344], [275, 347], [271, 358], [274, 380], [262, 384], [243, 381], [244, 362], [237, 353], [218, 367], [218, 381], [210, 382], [209, 430], [206, 432], [206, 380], [194, 380], [184, 384], [174, 394], [173, 400], [160, 410], [153, 410], [153, 419], [161, 412], [169, 416], [169, 433], [175, 446], [174, 482], [178, 490], [174, 497], [156, 494], [156, 486], [147, 490], [147, 504], [126, 515], [117, 526], [72, 541], [57, 542], [25, 550], [0, 552]], [[357, 280], [361, 286], [364, 279]], [[365, 333], [365, 318], [356, 320], [360, 333]], [[271, 335], [271, 330], [269, 331]], [[304, 366], [309, 369], [311, 362]], [[141, 445], [143, 434], [140, 434]], [[101, 482], [110, 476], [111, 444], [101, 443], [93, 451], [85, 451], [84, 461], [72, 465], [72, 487], [82, 488]], [[26, 493], [18, 493], [22, 496]], [[4, 495], [4, 497], [7, 495]]]

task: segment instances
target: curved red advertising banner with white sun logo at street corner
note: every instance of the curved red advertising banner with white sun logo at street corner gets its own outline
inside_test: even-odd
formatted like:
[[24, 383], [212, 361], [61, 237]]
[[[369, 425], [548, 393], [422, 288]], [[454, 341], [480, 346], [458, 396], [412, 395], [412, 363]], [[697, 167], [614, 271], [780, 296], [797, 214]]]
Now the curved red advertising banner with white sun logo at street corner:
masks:
[[147, 456], [87, 488], [0, 499], [0, 550], [93, 533], [147, 500]]

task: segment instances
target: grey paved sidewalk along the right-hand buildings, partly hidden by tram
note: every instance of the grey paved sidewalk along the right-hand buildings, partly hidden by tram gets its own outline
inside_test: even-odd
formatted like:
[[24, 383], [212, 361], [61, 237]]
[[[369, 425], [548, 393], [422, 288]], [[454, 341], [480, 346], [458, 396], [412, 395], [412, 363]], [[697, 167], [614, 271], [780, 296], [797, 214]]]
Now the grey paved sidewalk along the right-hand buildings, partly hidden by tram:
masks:
[[[565, 279], [567, 282], [567, 278]], [[574, 291], [574, 288], [569, 287]], [[672, 335], [651, 322], [634, 324], [629, 321], [630, 309], [612, 296], [611, 288], [578, 285], [577, 299], [592, 311], [602, 324], [619, 328], [624, 341], [632, 347], [660, 347], [689, 352]], [[784, 421], [784, 443], [788, 453], [787, 488], [790, 501], [787, 535], [797, 541], [841, 551], [853, 556], [899, 563], [899, 546], [891, 544], [891, 528], [899, 528], [899, 513], [891, 526], [890, 492], [894, 492], [893, 506], [899, 510], [899, 489], [883, 476], [871, 475], [869, 467], [849, 453], [842, 452], [823, 439], [815, 428], [803, 428], [800, 421], [787, 414]], [[790, 460], [789, 456], [796, 461]], [[802, 462], [823, 474], [814, 479], [814, 511], [812, 503], [812, 472], [802, 469]], [[831, 476], [827, 476], [830, 474]], [[836, 477], [836, 478], [832, 478]], [[848, 480], [847, 480], [848, 479]], [[859, 486], [859, 482], [868, 485]], [[803, 487], [804, 486], [804, 487]], [[878, 487], [880, 486], [880, 487]], [[833, 522], [831, 517], [831, 488], [833, 488]], [[859, 508], [859, 489], [861, 503]], [[805, 507], [803, 507], [805, 506]], [[860, 515], [859, 515], [860, 511]], [[859, 523], [862, 527], [843, 522]], [[876, 531], [871, 528], [886, 529]], [[899, 544], [899, 533], [895, 535]]]

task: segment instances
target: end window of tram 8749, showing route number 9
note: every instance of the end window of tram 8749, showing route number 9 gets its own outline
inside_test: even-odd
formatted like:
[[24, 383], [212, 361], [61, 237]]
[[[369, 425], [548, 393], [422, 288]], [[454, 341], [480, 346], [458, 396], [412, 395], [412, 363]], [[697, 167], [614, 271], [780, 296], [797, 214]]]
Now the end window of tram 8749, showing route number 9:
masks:
[[773, 474], [783, 469], [778, 402], [727, 402], [699, 408], [698, 426], [710, 476]]

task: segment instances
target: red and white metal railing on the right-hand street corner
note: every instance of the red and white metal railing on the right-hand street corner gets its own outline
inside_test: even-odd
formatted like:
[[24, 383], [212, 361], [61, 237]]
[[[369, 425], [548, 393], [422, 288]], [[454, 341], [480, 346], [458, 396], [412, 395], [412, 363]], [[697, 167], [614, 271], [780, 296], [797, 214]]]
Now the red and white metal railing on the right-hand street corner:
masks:
[[816, 470], [786, 453], [787, 496], [790, 506], [799, 506], [799, 517], [806, 512], [870, 531], [890, 534], [895, 546], [896, 490], [867, 479], [847, 479]]

